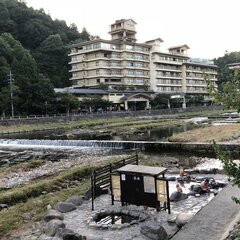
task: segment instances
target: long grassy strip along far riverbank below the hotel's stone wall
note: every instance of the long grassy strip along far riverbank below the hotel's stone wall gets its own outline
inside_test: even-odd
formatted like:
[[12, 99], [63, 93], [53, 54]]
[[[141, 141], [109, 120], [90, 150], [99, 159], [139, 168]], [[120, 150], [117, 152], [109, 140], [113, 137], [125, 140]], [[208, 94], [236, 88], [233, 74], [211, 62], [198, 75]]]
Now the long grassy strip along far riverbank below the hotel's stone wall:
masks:
[[[105, 115], [98, 115], [97, 118], [83, 118], [75, 121], [61, 121], [61, 122], [46, 122], [46, 123], [34, 123], [34, 124], [19, 124], [0, 126], [0, 133], [2, 135], [9, 133], [24, 133], [43, 130], [57, 130], [57, 129], [95, 129], [95, 130], [109, 130], [114, 132], [120, 132], [120, 130], [129, 129], [134, 130], [146, 130], [155, 127], [167, 127], [170, 125], [182, 125], [182, 119], [192, 117], [211, 117], [220, 115], [227, 111], [215, 110], [215, 111], [201, 111], [201, 112], [188, 112], [179, 113], [168, 118], [161, 116], [148, 115], [142, 117], [108, 117]], [[51, 119], [50, 119], [51, 120]], [[185, 123], [186, 124], [186, 123]]]

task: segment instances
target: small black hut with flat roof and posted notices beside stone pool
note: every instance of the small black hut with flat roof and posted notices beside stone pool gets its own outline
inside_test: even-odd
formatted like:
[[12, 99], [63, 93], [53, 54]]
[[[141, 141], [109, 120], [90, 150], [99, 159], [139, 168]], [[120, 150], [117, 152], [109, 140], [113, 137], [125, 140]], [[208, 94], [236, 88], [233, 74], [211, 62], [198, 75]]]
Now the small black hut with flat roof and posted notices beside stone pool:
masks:
[[111, 175], [112, 204], [121, 201], [122, 205], [168, 209], [170, 213], [169, 186], [164, 167], [149, 167], [128, 164]]

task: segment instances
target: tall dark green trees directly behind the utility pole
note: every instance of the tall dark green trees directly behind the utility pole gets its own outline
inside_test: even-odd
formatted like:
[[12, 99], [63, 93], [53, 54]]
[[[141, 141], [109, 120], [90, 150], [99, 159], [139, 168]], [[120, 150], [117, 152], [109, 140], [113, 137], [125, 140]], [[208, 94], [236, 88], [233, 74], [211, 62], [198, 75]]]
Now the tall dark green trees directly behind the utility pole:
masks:
[[[0, 36], [0, 54], [0, 98], [4, 102], [1, 109], [9, 113], [4, 106], [10, 106], [10, 100], [5, 96], [10, 96], [7, 93], [9, 88], [7, 76], [11, 69], [15, 79], [14, 85], [17, 89], [14, 93], [16, 110], [25, 114], [41, 112], [41, 106], [44, 105], [46, 98], [51, 98], [54, 95], [53, 86], [47, 77], [40, 74], [31, 53], [24, 49], [11, 34], [4, 33]], [[41, 97], [41, 92], [44, 92], [42, 94], [44, 97]]]

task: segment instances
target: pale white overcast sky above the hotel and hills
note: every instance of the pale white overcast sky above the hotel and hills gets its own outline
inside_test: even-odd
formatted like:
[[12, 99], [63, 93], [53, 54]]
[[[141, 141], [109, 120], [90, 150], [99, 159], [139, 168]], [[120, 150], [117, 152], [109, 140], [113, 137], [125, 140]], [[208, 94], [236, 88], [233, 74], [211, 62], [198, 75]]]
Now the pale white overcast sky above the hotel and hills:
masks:
[[240, 0], [26, 0], [53, 19], [86, 27], [110, 39], [110, 24], [133, 19], [137, 41], [161, 38], [162, 50], [187, 44], [190, 57], [215, 58], [240, 51]]

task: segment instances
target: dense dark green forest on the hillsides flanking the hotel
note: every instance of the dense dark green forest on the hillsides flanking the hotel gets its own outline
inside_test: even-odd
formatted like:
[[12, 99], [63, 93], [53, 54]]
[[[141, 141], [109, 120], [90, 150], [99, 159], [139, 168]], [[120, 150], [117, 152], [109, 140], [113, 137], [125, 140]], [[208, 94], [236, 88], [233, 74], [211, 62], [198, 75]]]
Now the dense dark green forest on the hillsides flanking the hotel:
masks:
[[[13, 105], [15, 115], [76, 108], [74, 96], [56, 94], [54, 88], [71, 84], [68, 46], [90, 38], [86, 28], [79, 32], [74, 23], [53, 20], [43, 9], [27, 7], [24, 0], [0, 0], [1, 115], [13, 115]], [[240, 62], [240, 52], [226, 53], [214, 62], [219, 66], [219, 84], [226, 83], [233, 78], [227, 64]]]

